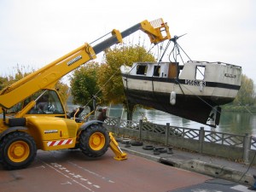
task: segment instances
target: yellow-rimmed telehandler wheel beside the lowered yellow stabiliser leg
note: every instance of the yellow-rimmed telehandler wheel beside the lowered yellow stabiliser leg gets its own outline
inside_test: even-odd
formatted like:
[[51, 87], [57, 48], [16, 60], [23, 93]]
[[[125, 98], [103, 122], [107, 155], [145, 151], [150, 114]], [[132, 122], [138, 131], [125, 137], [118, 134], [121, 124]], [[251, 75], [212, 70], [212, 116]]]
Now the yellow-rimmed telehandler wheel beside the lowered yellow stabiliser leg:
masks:
[[93, 124], [81, 132], [79, 147], [88, 157], [100, 157], [105, 154], [109, 147], [109, 135], [105, 127]]

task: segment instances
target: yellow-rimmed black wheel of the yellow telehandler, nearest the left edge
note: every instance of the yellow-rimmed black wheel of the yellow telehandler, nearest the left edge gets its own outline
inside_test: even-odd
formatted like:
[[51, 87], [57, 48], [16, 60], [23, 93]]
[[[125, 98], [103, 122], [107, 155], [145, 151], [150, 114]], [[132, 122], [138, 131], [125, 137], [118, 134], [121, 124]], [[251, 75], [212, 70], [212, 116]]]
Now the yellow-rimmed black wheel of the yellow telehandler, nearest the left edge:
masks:
[[26, 132], [9, 133], [0, 143], [0, 159], [8, 170], [29, 166], [37, 155], [34, 139]]

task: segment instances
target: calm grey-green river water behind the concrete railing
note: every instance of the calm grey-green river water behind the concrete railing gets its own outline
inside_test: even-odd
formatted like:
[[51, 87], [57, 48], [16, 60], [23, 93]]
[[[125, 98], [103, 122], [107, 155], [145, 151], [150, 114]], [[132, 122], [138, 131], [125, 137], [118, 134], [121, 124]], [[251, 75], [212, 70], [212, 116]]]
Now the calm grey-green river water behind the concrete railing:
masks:
[[[108, 108], [108, 116], [126, 119], [126, 112], [122, 108], [110, 106]], [[149, 122], [160, 125], [170, 123], [170, 125], [173, 126], [192, 129], [200, 129], [200, 127], [203, 126], [206, 131], [218, 131], [239, 135], [244, 135], [246, 133], [249, 135], [256, 135], [256, 113], [223, 112], [221, 114], [220, 123], [216, 128], [154, 109], [147, 110], [140, 108], [133, 113], [134, 120], [143, 119], [143, 117], [146, 117]]]

